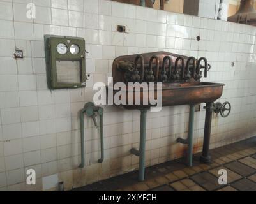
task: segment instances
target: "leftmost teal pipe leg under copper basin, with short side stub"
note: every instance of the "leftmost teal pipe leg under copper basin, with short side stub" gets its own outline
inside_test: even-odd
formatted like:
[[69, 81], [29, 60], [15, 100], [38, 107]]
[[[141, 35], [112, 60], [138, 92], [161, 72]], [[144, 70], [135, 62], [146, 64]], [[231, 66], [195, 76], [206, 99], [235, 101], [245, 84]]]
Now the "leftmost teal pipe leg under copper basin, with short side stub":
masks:
[[147, 110], [140, 110], [140, 149], [132, 149], [131, 153], [139, 156], [139, 181], [143, 181], [145, 177], [145, 144], [146, 144], [146, 120]]

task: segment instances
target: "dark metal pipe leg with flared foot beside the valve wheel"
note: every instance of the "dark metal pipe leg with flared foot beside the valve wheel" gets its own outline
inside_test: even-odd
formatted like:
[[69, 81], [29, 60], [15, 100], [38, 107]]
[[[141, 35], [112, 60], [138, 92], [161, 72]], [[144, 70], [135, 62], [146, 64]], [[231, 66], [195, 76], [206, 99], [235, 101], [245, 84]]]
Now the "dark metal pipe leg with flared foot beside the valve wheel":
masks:
[[210, 138], [211, 138], [211, 119], [213, 117], [213, 102], [206, 103], [206, 122], [204, 124], [204, 144], [202, 147], [202, 156], [200, 161], [203, 163], [211, 163], [209, 154]]

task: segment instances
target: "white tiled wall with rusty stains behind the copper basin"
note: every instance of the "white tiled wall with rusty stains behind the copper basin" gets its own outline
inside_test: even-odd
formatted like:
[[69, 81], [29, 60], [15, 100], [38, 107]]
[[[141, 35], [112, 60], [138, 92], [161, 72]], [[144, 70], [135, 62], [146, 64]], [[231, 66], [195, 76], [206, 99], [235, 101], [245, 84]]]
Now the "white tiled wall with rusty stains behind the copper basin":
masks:
[[[36, 4], [35, 20], [26, 18], [31, 1]], [[128, 32], [117, 33], [116, 25], [126, 25]], [[204, 80], [225, 82], [219, 101], [232, 104], [228, 118], [213, 118], [211, 148], [256, 135], [255, 27], [107, 0], [0, 0], [0, 27], [1, 190], [54, 187], [52, 177], [71, 189], [138, 167], [130, 149], [139, 146], [140, 113], [105, 106], [105, 161], [97, 163], [98, 131], [86, 119], [86, 168], [78, 168], [79, 110], [93, 100], [93, 83], [111, 76], [112, 61], [119, 55], [166, 50], [207, 57], [211, 71]], [[86, 89], [47, 89], [44, 34], [86, 39], [91, 73]], [[196, 40], [199, 35], [201, 41]], [[13, 58], [15, 48], [24, 50], [24, 59]], [[197, 152], [204, 115], [204, 110], [195, 114]], [[176, 138], [185, 138], [187, 129], [188, 106], [149, 113], [147, 166], [183, 156], [184, 146]], [[36, 170], [36, 186], [25, 184], [29, 168]]]

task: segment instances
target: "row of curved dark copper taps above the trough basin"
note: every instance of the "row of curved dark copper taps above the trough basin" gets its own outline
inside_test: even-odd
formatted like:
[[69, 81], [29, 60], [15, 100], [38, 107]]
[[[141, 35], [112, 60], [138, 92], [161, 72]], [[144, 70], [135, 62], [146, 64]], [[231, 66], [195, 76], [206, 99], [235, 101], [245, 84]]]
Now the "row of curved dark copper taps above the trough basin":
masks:
[[[138, 64], [140, 61], [140, 75], [138, 71]], [[153, 55], [151, 59], [149, 60], [149, 69], [145, 71], [144, 68], [144, 57], [142, 55], [137, 55], [135, 58], [135, 69], [134, 69], [134, 74], [133, 74], [133, 80], [134, 81], [143, 81], [144, 79], [147, 82], [154, 82], [154, 73], [153, 73], [153, 62], [156, 62], [156, 76], [158, 76], [158, 80], [161, 82], [167, 82], [167, 80], [189, 80], [190, 78], [194, 78], [195, 80], [200, 80], [202, 78], [201, 71], [200, 69], [204, 68], [204, 77], [207, 77], [207, 70], [209, 68], [208, 62], [206, 57], [201, 57], [198, 61], [195, 59], [195, 57], [188, 57], [186, 61], [186, 68], [185, 68], [185, 59], [184, 57], [177, 57], [175, 64], [174, 64], [174, 71], [172, 71], [172, 59], [169, 55], [166, 55], [163, 58], [163, 64], [162, 64], [162, 69], [161, 69], [161, 75], [159, 75], [160, 71], [160, 59], [156, 55]], [[167, 66], [167, 63], [168, 66]], [[179, 74], [178, 71], [178, 65], [179, 61], [181, 62], [181, 74]], [[204, 66], [201, 66], [200, 63], [204, 61]], [[192, 63], [193, 62], [193, 63]], [[190, 68], [193, 66], [193, 71], [192, 73], [190, 72]], [[167, 76], [167, 71], [166, 68], [169, 69], [169, 76]], [[145, 76], [146, 72], [146, 76]], [[142, 80], [140, 80], [142, 79]]]

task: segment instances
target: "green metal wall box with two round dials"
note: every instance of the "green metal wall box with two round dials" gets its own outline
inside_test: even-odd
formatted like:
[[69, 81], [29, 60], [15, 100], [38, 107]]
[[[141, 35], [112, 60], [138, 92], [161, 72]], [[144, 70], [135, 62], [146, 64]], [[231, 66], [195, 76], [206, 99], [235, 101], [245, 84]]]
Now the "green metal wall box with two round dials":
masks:
[[83, 38], [45, 35], [49, 89], [86, 86], [86, 43]]

